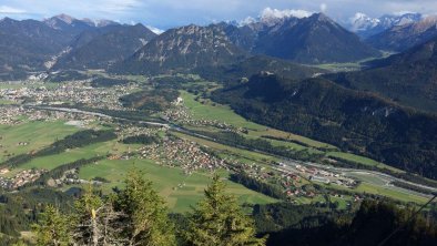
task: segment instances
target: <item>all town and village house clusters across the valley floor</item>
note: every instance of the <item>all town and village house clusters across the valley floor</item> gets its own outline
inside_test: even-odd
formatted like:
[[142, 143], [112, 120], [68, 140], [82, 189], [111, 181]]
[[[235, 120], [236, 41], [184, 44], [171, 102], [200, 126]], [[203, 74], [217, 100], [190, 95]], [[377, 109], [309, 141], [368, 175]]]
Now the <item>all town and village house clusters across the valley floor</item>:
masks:
[[[345, 187], [354, 187], [356, 182], [344, 177], [342, 174], [328, 172], [326, 170], [301, 164], [272, 163], [271, 167], [264, 167], [257, 163], [242, 163], [237, 160], [221, 158], [209, 147], [202, 146], [195, 142], [179, 139], [169, 134], [166, 127], [145, 127], [141, 124], [118, 123], [111, 117], [100, 117], [98, 115], [84, 114], [80, 112], [62, 112], [44, 109], [26, 107], [27, 105], [60, 105], [63, 103], [82, 103], [89, 107], [99, 107], [108, 110], [129, 111], [132, 109], [123, 107], [119, 99], [133, 90], [136, 85], [113, 86], [108, 89], [95, 89], [84, 82], [62, 83], [53, 89], [45, 86], [24, 86], [21, 89], [0, 89], [0, 99], [16, 102], [18, 105], [0, 106], [0, 124], [14, 125], [26, 121], [63, 121], [65, 124], [78, 127], [89, 127], [95, 122], [110, 123], [114, 126], [118, 134], [118, 141], [123, 142], [130, 136], [159, 136], [157, 143], [141, 145], [136, 150], [120, 153], [119, 150], [109, 155], [109, 160], [152, 160], [159, 165], [182, 168], [185, 175], [193, 172], [214, 172], [224, 168], [231, 172], [246, 173], [251, 177], [268, 183], [275, 183], [281, 186], [287, 197], [314, 197], [317, 191], [307, 188], [309, 184], [336, 184]], [[185, 127], [215, 127], [235, 133], [246, 133], [243, 127], [235, 127], [225, 122], [195, 119], [190, 110], [184, 105], [183, 99], [177, 98], [170, 109], [161, 113], [161, 117], [167, 122], [175, 122]], [[163, 133], [163, 134], [160, 134]], [[27, 143], [18, 143], [27, 144]], [[1, 148], [1, 146], [0, 146]], [[18, 187], [35, 181], [45, 171], [22, 171], [12, 178], [2, 177], [0, 174], [0, 187], [7, 189], [17, 189]], [[62, 177], [49, 180], [48, 184], [53, 187], [74, 184], [94, 184], [100, 185], [99, 181], [84, 181], [79, 177], [79, 170], [67, 171]]]

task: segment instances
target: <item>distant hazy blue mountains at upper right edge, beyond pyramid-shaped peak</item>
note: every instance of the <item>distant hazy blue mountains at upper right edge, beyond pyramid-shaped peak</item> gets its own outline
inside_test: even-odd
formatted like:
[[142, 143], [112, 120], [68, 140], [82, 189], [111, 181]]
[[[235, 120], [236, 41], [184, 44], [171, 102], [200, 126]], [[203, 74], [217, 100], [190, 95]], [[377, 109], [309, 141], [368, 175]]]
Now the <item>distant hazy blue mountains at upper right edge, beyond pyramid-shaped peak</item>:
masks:
[[437, 37], [437, 17], [428, 17], [419, 22], [395, 25], [369, 37], [370, 45], [389, 51], [405, 51]]

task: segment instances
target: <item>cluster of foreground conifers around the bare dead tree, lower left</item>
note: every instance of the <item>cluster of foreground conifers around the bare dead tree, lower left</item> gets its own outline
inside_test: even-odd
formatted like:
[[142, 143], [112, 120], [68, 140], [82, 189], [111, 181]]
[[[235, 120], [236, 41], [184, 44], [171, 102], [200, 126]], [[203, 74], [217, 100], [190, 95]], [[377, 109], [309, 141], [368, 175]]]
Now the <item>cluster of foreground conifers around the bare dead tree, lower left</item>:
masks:
[[176, 245], [163, 199], [139, 171], [129, 174], [124, 189], [109, 197], [89, 186], [69, 216], [48, 206], [34, 233], [41, 246]]

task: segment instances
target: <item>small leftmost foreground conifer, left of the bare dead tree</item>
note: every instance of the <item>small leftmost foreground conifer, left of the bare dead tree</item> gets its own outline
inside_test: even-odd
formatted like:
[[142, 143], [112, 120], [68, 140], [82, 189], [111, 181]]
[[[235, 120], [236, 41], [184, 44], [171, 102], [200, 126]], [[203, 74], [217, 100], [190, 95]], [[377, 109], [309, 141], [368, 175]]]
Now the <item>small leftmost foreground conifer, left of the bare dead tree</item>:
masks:
[[41, 213], [33, 233], [38, 246], [67, 246], [71, 243], [71, 223], [68, 216], [62, 215], [53, 205], [48, 205]]

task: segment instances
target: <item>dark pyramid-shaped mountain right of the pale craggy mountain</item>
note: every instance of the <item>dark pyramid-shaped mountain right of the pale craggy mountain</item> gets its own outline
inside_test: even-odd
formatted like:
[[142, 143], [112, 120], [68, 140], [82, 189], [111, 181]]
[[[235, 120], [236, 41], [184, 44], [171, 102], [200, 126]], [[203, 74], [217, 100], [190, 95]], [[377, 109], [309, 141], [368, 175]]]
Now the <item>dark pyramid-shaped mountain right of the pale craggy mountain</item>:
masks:
[[323, 13], [261, 20], [240, 28], [221, 27], [234, 44], [248, 52], [301, 63], [348, 62], [379, 55]]

